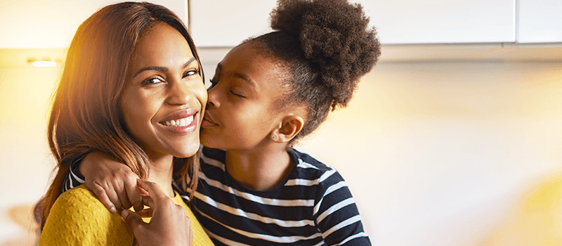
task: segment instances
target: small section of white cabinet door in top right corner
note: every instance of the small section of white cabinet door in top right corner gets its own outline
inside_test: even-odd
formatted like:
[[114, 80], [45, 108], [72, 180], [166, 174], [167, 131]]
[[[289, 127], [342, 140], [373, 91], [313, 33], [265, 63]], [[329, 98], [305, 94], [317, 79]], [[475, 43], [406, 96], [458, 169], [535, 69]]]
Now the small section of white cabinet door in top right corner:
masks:
[[519, 0], [518, 19], [518, 42], [562, 42], [561, 0]]

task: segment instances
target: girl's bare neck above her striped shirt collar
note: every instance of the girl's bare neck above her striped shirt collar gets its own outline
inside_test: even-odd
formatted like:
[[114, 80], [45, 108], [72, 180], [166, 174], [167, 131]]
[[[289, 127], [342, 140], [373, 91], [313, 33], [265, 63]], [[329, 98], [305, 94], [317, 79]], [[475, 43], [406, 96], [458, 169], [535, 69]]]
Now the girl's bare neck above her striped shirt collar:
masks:
[[292, 170], [287, 150], [226, 150], [226, 170], [236, 181], [254, 190], [278, 186]]

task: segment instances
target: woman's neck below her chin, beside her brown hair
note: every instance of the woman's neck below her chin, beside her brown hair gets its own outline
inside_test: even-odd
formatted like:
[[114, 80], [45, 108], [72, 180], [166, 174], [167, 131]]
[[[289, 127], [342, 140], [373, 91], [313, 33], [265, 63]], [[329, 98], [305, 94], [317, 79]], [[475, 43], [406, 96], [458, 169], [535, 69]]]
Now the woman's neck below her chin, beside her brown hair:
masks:
[[174, 189], [171, 188], [172, 176], [174, 175], [174, 156], [172, 155], [149, 155], [152, 165], [147, 180], [155, 182], [162, 191], [174, 197]]

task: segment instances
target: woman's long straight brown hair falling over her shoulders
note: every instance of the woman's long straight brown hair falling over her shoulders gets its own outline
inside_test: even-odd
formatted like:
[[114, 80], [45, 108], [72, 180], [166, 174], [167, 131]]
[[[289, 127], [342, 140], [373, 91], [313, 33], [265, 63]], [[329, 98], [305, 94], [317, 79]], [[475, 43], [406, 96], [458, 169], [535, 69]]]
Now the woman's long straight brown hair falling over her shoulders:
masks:
[[[114, 157], [141, 178], [148, 173], [150, 160], [126, 130], [119, 101], [138, 39], [157, 22], [174, 27], [185, 37], [202, 71], [187, 28], [163, 6], [114, 4], [101, 8], [78, 27], [53, 96], [48, 122], [48, 143], [57, 171], [46, 195], [35, 207], [41, 229], [55, 200], [63, 193], [70, 165], [91, 150]], [[197, 155], [174, 158], [174, 177], [181, 176], [183, 188], [196, 189], [198, 171]]]

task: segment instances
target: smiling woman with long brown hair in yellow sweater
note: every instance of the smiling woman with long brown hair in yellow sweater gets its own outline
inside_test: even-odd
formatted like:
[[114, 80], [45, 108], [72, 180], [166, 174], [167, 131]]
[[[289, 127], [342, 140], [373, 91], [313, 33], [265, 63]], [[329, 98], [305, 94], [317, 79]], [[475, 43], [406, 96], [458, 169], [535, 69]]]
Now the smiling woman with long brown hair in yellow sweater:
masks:
[[[169, 9], [125, 2], [84, 21], [70, 45], [49, 119], [58, 171], [36, 207], [39, 245], [185, 245], [191, 239], [194, 245], [212, 245], [171, 186], [173, 176], [181, 177], [183, 188], [197, 184], [194, 155], [206, 102], [195, 45]], [[122, 212], [133, 234], [86, 186], [63, 194], [70, 165], [91, 150], [150, 181], [138, 186], [154, 223]], [[153, 233], [172, 236], [152, 241]]]

